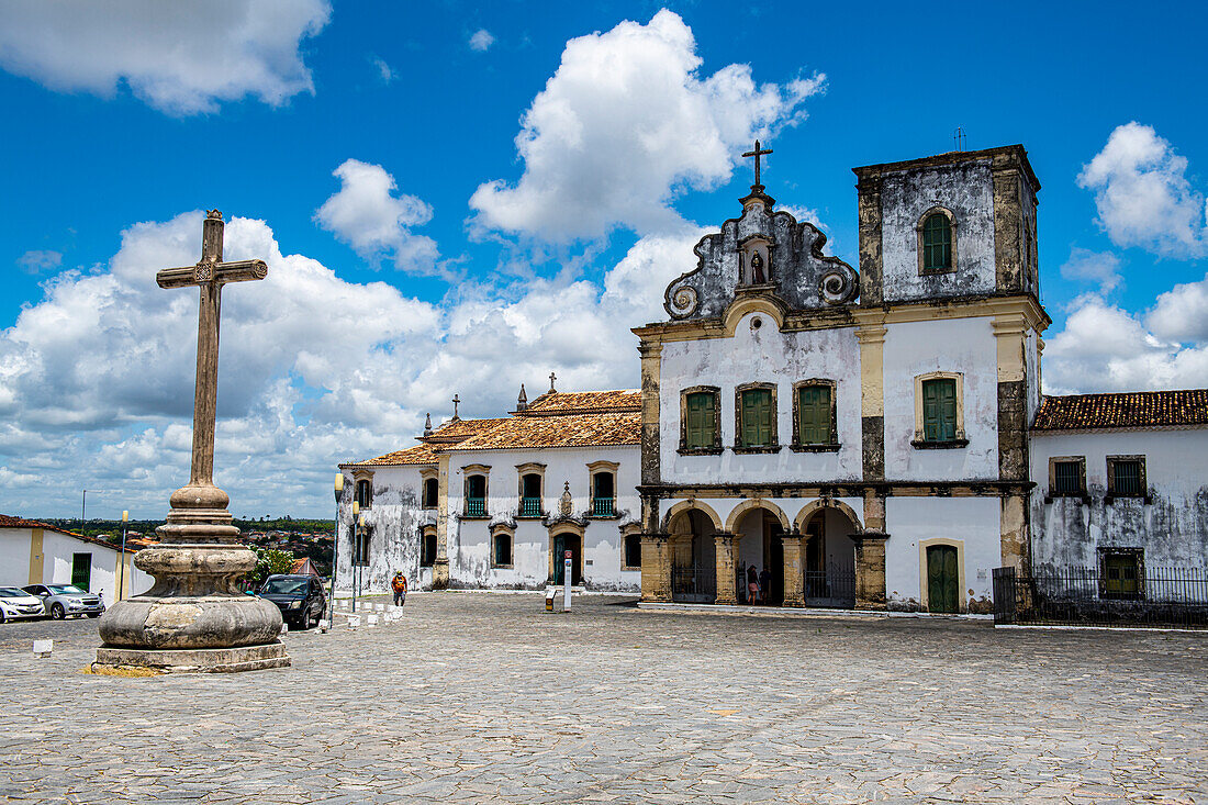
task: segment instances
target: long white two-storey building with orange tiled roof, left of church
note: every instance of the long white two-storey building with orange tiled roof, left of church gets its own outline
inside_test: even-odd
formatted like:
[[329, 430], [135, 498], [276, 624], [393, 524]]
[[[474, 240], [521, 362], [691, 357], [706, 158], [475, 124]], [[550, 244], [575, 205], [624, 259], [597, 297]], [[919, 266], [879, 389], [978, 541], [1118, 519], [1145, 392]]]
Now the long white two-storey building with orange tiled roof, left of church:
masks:
[[[640, 393], [550, 390], [498, 419], [454, 416], [348, 475], [337, 586], [640, 586]], [[365, 526], [353, 528], [353, 502]]]

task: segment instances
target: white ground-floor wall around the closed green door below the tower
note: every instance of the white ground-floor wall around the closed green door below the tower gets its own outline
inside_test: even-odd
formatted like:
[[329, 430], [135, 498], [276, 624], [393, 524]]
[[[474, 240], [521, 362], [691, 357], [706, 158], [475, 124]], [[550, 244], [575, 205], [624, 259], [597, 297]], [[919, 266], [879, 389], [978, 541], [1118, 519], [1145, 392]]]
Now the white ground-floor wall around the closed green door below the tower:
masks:
[[923, 548], [925, 540], [936, 539], [958, 549], [964, 574], [962, 608], [970, 601], [986, 608], [992, 600], [991, 571], [1003, 563], [998, 498], [890, 497], [885, 499], [885, 593], [892, 609], [922, 606]]

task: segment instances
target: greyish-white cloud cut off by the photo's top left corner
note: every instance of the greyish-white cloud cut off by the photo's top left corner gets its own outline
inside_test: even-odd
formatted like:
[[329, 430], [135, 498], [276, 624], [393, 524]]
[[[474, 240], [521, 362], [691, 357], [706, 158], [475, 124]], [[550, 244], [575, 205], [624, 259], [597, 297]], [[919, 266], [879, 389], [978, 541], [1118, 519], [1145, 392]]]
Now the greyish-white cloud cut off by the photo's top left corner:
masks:
[[326, 0], [0, 1], [0, 65], [63, 91], [112, 97], [124, 83], [170, 115], [216, 111], [246, 95], [280, 105], [314, 92], [302, 40]]

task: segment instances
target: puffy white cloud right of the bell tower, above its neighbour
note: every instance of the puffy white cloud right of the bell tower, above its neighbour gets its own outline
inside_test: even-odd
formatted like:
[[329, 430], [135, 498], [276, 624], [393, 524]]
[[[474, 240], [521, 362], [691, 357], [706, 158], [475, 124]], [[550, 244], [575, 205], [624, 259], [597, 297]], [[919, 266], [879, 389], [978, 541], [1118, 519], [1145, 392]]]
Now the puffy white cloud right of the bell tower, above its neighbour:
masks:
[[1186, 170], [1186, 157], [1134, 121], [1111, 132], [1078, 184], [1094, 192], [1098, 222], [1116, 245], [1202, 256], [1208, 254], [1208, 209]]

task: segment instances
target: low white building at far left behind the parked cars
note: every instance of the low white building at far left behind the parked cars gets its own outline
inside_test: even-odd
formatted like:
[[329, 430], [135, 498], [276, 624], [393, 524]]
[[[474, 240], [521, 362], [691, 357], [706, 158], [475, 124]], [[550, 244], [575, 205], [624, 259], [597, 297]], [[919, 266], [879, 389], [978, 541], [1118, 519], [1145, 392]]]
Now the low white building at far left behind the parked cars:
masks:
[[[127, 549], [123, 596], [151, 589], [153, 579], [133, 564]], [[106, 604], [117, 600], [121, 550], [106, 542], [63, 531], [36, 520], [0, 515], [0, 585], [74, 584], [103, 592]]]

